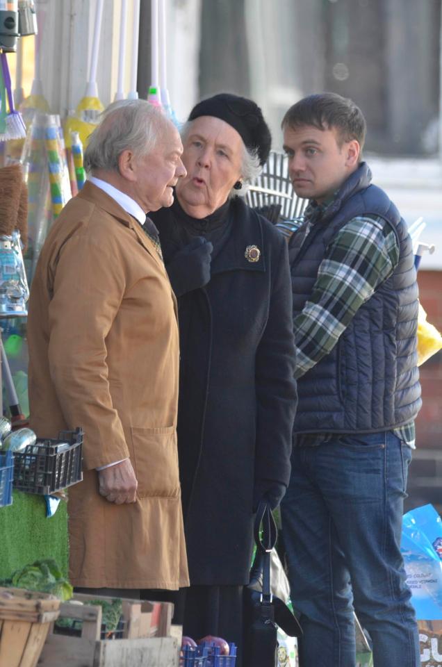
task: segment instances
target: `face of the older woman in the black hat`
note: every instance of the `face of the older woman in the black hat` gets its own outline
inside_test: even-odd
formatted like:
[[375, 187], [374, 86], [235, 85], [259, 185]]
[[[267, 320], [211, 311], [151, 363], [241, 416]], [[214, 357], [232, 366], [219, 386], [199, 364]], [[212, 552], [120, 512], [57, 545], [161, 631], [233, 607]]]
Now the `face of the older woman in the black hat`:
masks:
[[231, 125], [214, 116], [200, 116], [183, 140], [187, 176], [179, 180], [177, 197], [188, 215], [206, 217], [227, 200], [241, 177], [244, 144]]

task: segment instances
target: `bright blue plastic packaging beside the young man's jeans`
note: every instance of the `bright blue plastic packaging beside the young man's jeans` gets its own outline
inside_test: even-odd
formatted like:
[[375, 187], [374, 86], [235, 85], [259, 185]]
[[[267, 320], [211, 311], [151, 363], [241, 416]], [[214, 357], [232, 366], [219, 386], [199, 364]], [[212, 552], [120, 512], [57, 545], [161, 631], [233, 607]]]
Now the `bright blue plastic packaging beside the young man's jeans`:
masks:
[[416, 617], [441, 620], [442, 520], [432, 505], [404, 514], [401, 552]]

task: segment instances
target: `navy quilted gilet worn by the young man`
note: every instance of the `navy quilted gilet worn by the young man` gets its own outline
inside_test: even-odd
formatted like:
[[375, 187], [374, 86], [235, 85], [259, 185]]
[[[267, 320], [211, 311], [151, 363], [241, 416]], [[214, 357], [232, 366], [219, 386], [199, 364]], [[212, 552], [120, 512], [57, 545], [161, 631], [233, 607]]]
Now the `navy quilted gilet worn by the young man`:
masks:
[[329, 242], [352, 218], [383, 217], [400, 247], [393, 274], [359, 308], [331, 353], [298, 379], [295, 433], [385, 431], [411, 421], [420, 409], [418, 286], [411, 239], [398, 209], [370, 179], [362, 163], [304, 243], [302, 231], [290, 239], [294, 317], [311, 294]]

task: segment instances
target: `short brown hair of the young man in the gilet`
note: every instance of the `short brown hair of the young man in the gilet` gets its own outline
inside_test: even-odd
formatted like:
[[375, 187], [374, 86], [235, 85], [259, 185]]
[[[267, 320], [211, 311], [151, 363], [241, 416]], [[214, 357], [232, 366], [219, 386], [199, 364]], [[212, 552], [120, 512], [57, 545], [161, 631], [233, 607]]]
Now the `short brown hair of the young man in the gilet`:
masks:
[[356, 139], [363, 149], [366, 140], [366, 120], [359, 106], [351, 99], [334, 92], [309, 95], [290, 106], [281, 122], [295, 129], [302, 125], [312, 125], [319, 130], [335, 128], [340, 144]]

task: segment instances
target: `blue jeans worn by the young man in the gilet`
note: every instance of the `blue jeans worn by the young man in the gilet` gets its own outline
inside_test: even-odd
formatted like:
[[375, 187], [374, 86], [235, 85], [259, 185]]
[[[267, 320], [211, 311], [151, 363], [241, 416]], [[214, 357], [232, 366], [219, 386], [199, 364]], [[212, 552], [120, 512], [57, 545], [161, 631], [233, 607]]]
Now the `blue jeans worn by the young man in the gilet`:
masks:
[[411, 450], [391, 431], [293, 447], [281, 520], [302, 667], [354, 667], [353, 611], [375, 667], [419, 667], [400, 553]]

